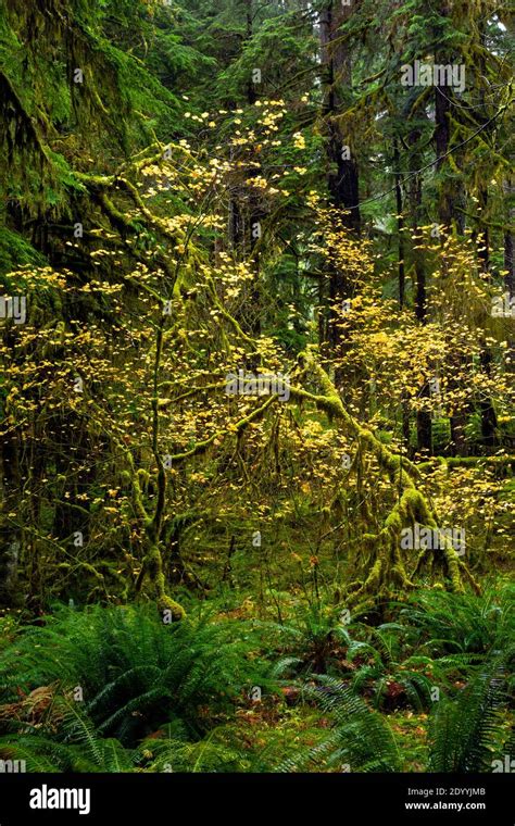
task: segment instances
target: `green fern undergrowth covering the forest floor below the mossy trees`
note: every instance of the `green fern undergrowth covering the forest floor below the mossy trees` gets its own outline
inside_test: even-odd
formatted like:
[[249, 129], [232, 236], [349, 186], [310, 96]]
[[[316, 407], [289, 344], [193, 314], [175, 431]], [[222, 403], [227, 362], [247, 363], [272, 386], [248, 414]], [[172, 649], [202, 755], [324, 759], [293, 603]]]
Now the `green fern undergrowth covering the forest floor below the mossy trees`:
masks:
[[[0, 759], [39, 772], [490, 772], [513, 751], [513, 586], [369, 624], [290, 598], [0, 618]], [[369, 621], [369, 617], [368, 617]]]

